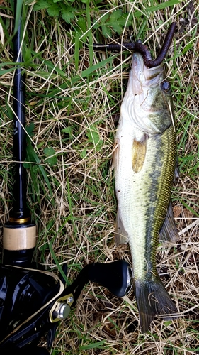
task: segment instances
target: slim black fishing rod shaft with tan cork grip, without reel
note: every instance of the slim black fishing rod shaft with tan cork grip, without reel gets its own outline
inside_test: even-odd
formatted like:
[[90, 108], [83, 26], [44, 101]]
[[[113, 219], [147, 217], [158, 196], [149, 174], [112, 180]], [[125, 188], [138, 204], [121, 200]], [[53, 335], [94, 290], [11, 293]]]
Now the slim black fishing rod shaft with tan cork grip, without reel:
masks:
[[[15, 13], [19, 1], [15, 1]], [[26, 202], [26, 132], [25, 132], [25, 75], [21, 68], [21, 18], [13, 37], [13, 61], [16, 69], [13, 76], [13, 209], [4, 224], [4, 263], [28, 267], [36, 245], [36, 225], [30, 218]]]

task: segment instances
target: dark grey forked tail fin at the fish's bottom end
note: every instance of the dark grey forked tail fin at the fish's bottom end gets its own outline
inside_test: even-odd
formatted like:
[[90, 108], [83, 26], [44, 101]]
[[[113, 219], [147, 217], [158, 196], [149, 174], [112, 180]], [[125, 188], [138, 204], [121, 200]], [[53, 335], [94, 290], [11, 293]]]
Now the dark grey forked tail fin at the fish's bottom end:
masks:
[[[178, 315], [173, 314], [178, 312], [178, 310], [158, 275], [157, 278], [150, 281], [135, 280], [134, 290], [142, 333], [146, 333], [149, 330], [149, 325], [155, 315], [163, 315], [166, 320], [178, 318]], [[164, 317], [164, 315], [168, 316]]]

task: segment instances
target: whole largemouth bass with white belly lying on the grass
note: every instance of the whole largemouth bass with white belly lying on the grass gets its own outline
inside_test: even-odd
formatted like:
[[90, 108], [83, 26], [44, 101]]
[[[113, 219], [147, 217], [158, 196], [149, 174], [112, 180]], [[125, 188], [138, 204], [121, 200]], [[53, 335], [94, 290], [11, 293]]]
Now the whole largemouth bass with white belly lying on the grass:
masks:
[[132, 54], [113, 152], [118, 211], [115, 244], [130, 244], [133, 287], [142, 333], [155, 315], [178, 317], [157, 273], [159, 239], [176, 241], [171, 206], [176, 168], [176, 129], [171, 85], [164, 66], [149, 68]]

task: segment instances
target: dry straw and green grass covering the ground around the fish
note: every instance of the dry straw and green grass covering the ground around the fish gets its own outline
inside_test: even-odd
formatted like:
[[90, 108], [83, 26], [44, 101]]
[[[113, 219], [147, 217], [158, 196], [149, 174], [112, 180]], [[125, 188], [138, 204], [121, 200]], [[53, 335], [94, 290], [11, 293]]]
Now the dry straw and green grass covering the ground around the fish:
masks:
[[[178, 134], [181, 175], [172, 201], [180, 237], [175, 246], [159, 246], [157, 268], [181, 318], [163, 322], [157, 317], [150, 332], [141, 334], [133, 293], [121, 300], [99, 285], [86, 285], [75, 310], [59, 323], [52, 354], [198, 354], [198, 4], [63, 1], [68, 21], [62, 18], [61, 1], [56, 4], [57, 16], [49, 16], [50, 5], [34, 11], [31, 1], [23, 10], [26, 116], [32, 141], [26, 163], [28, 205], [38, 224], [36, 257], [54, 272], [67, 263], [69, 282], [92, 261], [130, 262], [128, 246], [116, 248], [114, 243], [110, 165], [131, 54], [93, 53], [92, 45], [141, 38], [154, 58], [169, 23], [176, 21], [178, 33], [165, 67]], [[12, 200], [11, 5], [5, 0], [0, 9], [1, 226]]]

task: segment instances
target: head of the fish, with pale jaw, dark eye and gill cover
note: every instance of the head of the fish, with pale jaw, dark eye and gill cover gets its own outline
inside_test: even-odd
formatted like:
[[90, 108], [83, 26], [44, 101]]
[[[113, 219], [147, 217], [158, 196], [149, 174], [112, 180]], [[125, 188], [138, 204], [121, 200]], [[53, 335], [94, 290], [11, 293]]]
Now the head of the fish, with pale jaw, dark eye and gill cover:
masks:
[[121, 112], [147, 135], [163, 133], [172, 123], [171, 87], [163, 65], [149, 68], [140, 53], [133, 53]]

